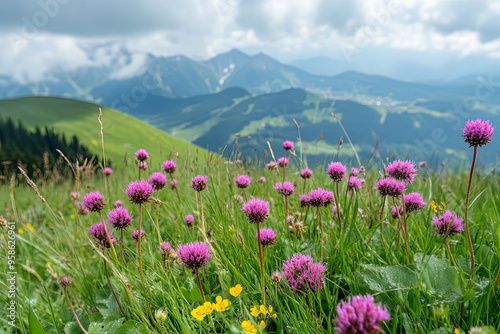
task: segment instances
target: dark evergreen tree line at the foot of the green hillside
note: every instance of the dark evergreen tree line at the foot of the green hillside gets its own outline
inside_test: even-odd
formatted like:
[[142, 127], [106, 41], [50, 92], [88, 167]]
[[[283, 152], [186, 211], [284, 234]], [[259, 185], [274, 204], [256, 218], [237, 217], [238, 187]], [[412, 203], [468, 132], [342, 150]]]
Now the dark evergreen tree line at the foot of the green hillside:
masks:
[[5, 177], [17, 173], [18, 165], [24, 166], [30, 177], [47, 176], [54, 168], [64, 171], [67, 163], [61, 159], [56, 149], [72, 162], [75, 158], [92, 157], [76, 136], [68, 141], [64, 135], [57, 134], [48, 127], [41, 129], [37, 126], [32, 132], [20, 121], [0, 118], [0, 174]]

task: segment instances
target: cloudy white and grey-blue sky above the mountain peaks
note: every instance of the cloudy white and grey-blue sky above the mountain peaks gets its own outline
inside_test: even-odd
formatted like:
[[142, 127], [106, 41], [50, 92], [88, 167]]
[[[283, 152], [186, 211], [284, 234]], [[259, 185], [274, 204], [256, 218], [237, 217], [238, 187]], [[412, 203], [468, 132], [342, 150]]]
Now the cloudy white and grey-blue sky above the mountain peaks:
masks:
[[140, 66], [146, 53], [206, 59], [239, 48], [382, 74], [456, 64], [458, 76], [500, 64], [499, 22], [497, 0], [2, 0], [0, 75], [39, 80], [123, 49]]

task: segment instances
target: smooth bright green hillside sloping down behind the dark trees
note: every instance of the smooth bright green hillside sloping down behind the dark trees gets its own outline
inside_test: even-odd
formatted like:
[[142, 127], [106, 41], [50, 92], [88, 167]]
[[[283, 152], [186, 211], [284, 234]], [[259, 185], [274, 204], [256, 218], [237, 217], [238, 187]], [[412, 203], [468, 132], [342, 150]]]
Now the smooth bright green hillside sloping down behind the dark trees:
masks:
[[[28, 128], [53, 128], [67, 137], [76, 135], [92, 153], [102, 155], [99, 107], [102, 108], [106, 159], [120, 161], [144, 148], [156, 157], [170, 151], [186, 152], [195, 145], [177, 139], [138, 119], [97, 104], [57, 98], [23, 97], [0, 100], [0, 117], [21, 120]], [[204, 150], [200, 150], [204, 154]], [[160, 155], [162, 154], [162, 155]]]

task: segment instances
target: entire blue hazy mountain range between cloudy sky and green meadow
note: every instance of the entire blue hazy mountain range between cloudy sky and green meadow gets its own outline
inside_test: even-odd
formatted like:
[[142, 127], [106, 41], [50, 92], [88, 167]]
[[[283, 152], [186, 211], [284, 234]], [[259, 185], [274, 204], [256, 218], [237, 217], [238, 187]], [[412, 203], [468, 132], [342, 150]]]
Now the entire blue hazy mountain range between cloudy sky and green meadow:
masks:
[[[133, 55], [123, 53], [125, 62], [54, 71], [36, 84], [0, 77], [0, 97], [93, 101], [212, 151], [228, 145], [229, 152], [246, 154], [261, 154], [267, 141], [276, 147], [286, 138], [297, 140], [295, 120], [304, 154], [318, 161], [332, 156], [340, 137], [347, 139], [338, 119], [365, 161], [377, 138], [384, 156], [464, 158], [463, 123], [476, 117], [500, 121], [500, 80], [491, 75], [440, 84], [355, 71], [318, 75], [236, 49], [206, 61], [146, 55], [133, 71]], [[354, 159], [346, 144], [343, 154]], [[488, 147], [488, 160], [495, 160], [499, 147]]]

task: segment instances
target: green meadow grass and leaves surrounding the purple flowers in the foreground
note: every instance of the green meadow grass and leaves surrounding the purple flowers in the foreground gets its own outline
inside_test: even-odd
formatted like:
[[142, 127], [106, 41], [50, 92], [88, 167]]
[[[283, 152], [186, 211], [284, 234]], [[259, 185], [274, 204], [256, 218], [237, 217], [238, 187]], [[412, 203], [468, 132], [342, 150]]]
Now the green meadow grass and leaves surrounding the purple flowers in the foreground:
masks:
[[[105, 129], [105, 138], [108, 133]], [[275, 152], [278, 154], [278, 152]], [[342, 156], [342, 155], [341, 155]], [[157, 159], [152, 154], [152, 159]], [[197, 280], [190, 271], [176, 260], [163, 269], [157, 252], [156, 231], [157, 204], [144, 206], [142, 228], [142, 258], [145, 282], [131, 261], [127, 267], [116, 261], [112, 254], [99, 250], [88, 234], [89, 227], [99, 221], [99, 215], [76, 214], [70, 191], [79, 191], [80, 198], [89, 191], [99, 190], [108, 203], [121, 200], [129, 209], [134, 221], [125, 232], [125, 249], [137, 263], [137, 247], [131, 240], [131, 230], [138, 228], [138, 205], [128, 201], [123, 189], [137, 178], [133, 165], [118, 167], [110, 177], [110, 189], [100, 173], [78, 182], [72, 175], [54, 177], [54, 180], [38, 180], [41, 195], [19, 182], [0, 189], [0, 204], [5, 208], [9, 223], [15, 223], [16, 233], [16, 305], [18, 319], [16, 330], [35, 333], [38, 320], [42, 330], [36, 333], [80, 333], [57, 280], [62, 275], [74, 278], [72, 288], [82, 307], [88, 313], [77, 311], [77, 316], [89, 333], [243, 333], [241, 323], [252, 320], [258, 326], [265, 320], [266, 333], [333, 333], [337, 317], [336, 306], [348, 296], [370, 293], [376, 302], [382, 303], [392, 319], [382, 324], [386, 333], [469, 333], [475, 326], [493, 326], [500, 330], [500, 288], [494, 290], [499, 272], [500, 254], [500, 205], [498, 187], [500, 178], [496, 172], [485, 175], [479, 171], [473, 180], [469, 220], [476, 256], [473, 280], [469, 283], [469, 254], [465, 233], [450, 238], [451, 252], [457, 266], [450, 260], [441, 237], [434, 234], [431, 220], [437, 213], [430, 206], [413, 212], [408, 217], [410, 263], [405, 265], [402, 238], [398, 242], [396, 222], [390, 217], [392, 201], [385, 206], [384, 220], [389, 225], [383, 233], [386, 246], [379, 233], [381, 197], [373, 184], [378, 170], [373, 166], [361, 176], [366, 179], [360, 193], [352, 198], [343, 182], [340, 183], [339, 203], [342, 208], [342, 232], [330, 208], [322, 208], [325, 225], [325, 258], [327, 267], [322, 290], [317, 293], [295, 294], [286, 280], [282, 285], [271, 281], [270, 276], [281, 270], [283, 261], [295, 253], [311, 255], [320, 261], [320, 229], [316, 225], [314, 210], [306, 214], [298, 197], [302, 194], [303, 180], [297, 166], [289, 166], [286, 180], [297, 181], [295, 193], [289, 198], [290, 213], [306, 223], [305, 232], [299, 238], [288, 232], [285, 223], [283, 198], [274, 190], [280, 175], [262, 170], [261, 162], [240, 166], [226, 164], [218, 156], [207, 159], [181, 155], [176, 159], [180, 195], [169, 188], [159, 191], [161, 204], [159, 226], [162, 240], [174, 248], [193, 241], [203, 241], [200, 231], [201, 210], [198, 193], [191, 188], [190, 178], [209, 175], [208, 188], [202, 192], [204, 217], [213, 234], [211, 252], [214, 255], [206, 269], [200, 271], [203, 290], [207, 299], [215, 303], [217, 296], [228, 299], [231, 305], [224, 312], [213, 311], [203, 321], [191, 316], [191, 311], [201, 304]], [[152, 171], [157, 171], [153, 169]], [[152, 172], [149, 171], [149, 172]], [[263, 228], [273, 228], [277, 242], [265, 251], [264, 271], [266, 304], [273, 306], [276, 318], [250, 314], [252, 306], [262, 304], [260, 288], [260, 264], [255, 238], [256, 226], [249, 224], [243, 212], [239, 196], [243, 196], [233, 179], [239, 174], [249, 174], [252, 184], [246, 189], [250, 197], [260, 197], [270, 204], [270, 215]], [[87, 174], [83, 174], [87, 175]], [[258, 183], [265, 176], [266, 182]], [[464, 198], [468, 173], [441, 168], [438, 171], [422, 168], [407, 193], [420, 192], [427, 203], [435, 201], [441, 208], [464, 213]], [[306, 191], [322, 187], [335, 189], [324, 170], [316, 169], [306, 183]], [[156, 195], [155, 195], [156, 197]], [[443, 204], [441, 204], [443, 203]], [[193, 214], [195, 226], [188, 228], [183, 219]], [[175, 218], [174, 218], [175, 217]], [[28, 225], [29, 224], [29, 225]], [[14, 225], [12, 225], [14, 226]], [[332, 235], [330, 238], [330, 227]], [[19, 230], [23, 233], [20, 234]], [[120, 239], [119, 233], [113, 235]], [[2, 282], [6, 282], [9, 256], [7, 229], [1, 230], [0, 263]], [[120, 258], [120, 247], [115, 245]], [[112, 286], [124, 308], [126, 320], [106, 280], [103, 258], [109, 263]], [[47, 266], [50, 262], [50, 266]], [[243, 287], [238, 297], [229, 290], [236, 284]], [[10, 301], [7, 286], [0, 289], [2, 305]], [[70, 300], [76, 309], [74, 298]], [[30, 311], [30, 305], [33, 312]], [[462, 312], [463, 307], [463, 312]], [[150, 313], [150, 311], [151, 313]], [[162, 323], [154, 319], [156, 310], [166, 313]], [[0, 330], [6, 333], [14, 329], [8, 325], [7, 310], [0, 309]], [[492, 332], [494, 333], [494, 332]]]

